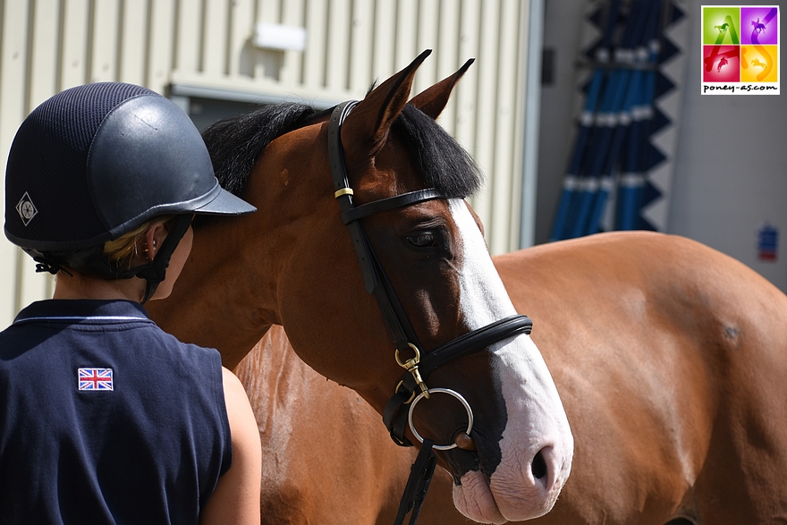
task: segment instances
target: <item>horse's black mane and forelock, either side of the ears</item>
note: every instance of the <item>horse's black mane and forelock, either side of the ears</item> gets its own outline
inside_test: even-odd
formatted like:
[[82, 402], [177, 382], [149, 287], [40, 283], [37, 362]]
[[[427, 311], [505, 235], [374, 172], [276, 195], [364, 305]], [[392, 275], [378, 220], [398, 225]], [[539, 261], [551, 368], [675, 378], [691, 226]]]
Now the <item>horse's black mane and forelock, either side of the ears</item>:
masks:
[[[331, 110], [327, 110], [330, 112]], [[312, 122], [323, 113], [311, 106], [284, 103], [263, 106], [249, 114], [224, 119], [202, 132], [224, 190], [242, 197], [257, 158], [276, 138]], [[409, 104], [393, 123], [425, 184], [446, 195], [467, 197], [483, 181], [478, 166], [431, 117]]]

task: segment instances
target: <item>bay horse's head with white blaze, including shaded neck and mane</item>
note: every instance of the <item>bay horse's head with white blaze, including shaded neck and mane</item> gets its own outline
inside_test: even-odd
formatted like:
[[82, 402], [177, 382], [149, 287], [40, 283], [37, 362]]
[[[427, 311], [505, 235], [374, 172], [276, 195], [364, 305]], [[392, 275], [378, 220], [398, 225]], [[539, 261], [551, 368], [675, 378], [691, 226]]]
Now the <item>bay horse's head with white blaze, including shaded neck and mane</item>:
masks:
[[[289, 106], [286, 117], [269, 109], [207, 131], [216, 174], [259, 211], [195, 226], [191, 262], [170, 301], [210, 290], [216, 315], [232, 318], [228, 326], [236, 328], [216, 333], [202, 323], [178, 335], [204, 333], [201, 341], [233, 365], [267, 326], [283, 325], [302, 360], [382, 414], [402, 375], [415, 377], [402, 366], [412, 364], [416, 349], [426, 358], [517, 313], [464, 200], [481, 184], [478, 168], [435, 121], [470, 63], [408, 103], [427, 54], [351, 110], [343, 106], [341, 115]], [[334, 162], [345, 166], [345, 182], [332, 178]], [[230, 180], [235, 172], [241, 182]], [[358, 227], [348, 229], [351, 224]], [[377, 267], [373, 275], [370, 264]], [[403, 349], [368, 293], [376, 287], [398, 298], [392, 308], [395, 322], [405, 326]], [[412, 428], [437, 445], [464, 446], [437, 453], [455, 480], [457, 508], [495, 523], [548, 512], [571, 470], [573, 440], [529, 335], [484, 343], [428, 372], [422, 388], [432, 394], [419, 397]], [[465, 441], [457, 439], [469, 425], [460, 397], [474, 419]], [[405, 401], [399, 410], [408, 407]], [[326, 432], [347, 423], [326, 421]], [[403, 441], [418, 445], [410, 428], [403, 432]]]

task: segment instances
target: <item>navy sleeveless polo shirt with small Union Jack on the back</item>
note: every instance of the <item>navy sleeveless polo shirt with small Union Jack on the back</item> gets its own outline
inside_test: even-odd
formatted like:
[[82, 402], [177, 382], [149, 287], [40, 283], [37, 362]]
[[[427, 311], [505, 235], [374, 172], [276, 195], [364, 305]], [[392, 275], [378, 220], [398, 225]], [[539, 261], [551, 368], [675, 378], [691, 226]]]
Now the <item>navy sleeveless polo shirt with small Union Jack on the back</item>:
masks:
[[0, 333], [0, 523], [189, 523], [232, 462], [221, 359], [131, 301]]

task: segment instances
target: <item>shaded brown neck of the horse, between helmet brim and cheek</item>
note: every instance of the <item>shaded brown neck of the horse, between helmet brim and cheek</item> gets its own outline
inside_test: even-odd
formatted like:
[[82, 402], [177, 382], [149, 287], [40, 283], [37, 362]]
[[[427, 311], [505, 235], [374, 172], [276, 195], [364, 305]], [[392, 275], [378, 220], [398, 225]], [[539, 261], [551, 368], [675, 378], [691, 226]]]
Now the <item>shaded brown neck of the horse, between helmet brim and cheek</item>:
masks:
[[[305, 167], [300, 175], [292, 168], [303, 161], [303, 151], [309, 152], [307, 146], [319, 131], [314, 126], [292, 133], [266, 148], [242, 195], [258, 211], [216, 218], [195, 229], [189, 261], [172, 295], [149, 309], [159, 326], [182, 341], [220, 351], [227, 368], [234, 368], [270, 326], [283, 325], [282, 268], [299, 241], [315, 229], [313, 221], [324, 220], [326, 212], [316, 212], [319, 202], [324, 201], [323, 207], [333, 204], [325, 198], [333, 194], [329, 176], [319, 184]], [[287, 155], [289, 145], [301, 136], [307, 146], [301, 144]], [[334, 218], [338, 221], [338, 215]]]

